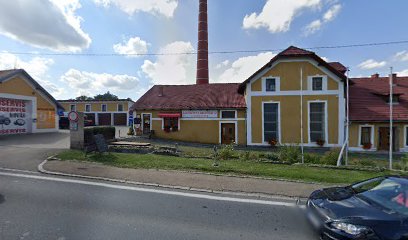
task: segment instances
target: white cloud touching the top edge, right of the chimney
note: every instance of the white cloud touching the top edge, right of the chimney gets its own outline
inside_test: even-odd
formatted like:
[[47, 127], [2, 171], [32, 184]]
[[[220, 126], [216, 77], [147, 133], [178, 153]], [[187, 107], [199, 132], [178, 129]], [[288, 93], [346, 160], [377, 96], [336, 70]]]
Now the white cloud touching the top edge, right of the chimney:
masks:
[[243, 28], [267, 28], [271, 33], [286, 32], [302, 10], [318, 8], [321, 3], [321, 0], [268, 0], [261, 13], [245, 16]]

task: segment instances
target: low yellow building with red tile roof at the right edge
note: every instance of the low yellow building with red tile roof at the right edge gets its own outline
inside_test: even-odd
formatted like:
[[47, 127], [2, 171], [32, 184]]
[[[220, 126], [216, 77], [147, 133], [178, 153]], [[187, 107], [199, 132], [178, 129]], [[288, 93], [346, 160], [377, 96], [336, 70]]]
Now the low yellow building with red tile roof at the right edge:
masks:
[[390, 146], [390, 105], [393, 114], [393, 151], [408, 152], [408, 77], [352, 78], [350, 87], [350, 149], [388, 151]]

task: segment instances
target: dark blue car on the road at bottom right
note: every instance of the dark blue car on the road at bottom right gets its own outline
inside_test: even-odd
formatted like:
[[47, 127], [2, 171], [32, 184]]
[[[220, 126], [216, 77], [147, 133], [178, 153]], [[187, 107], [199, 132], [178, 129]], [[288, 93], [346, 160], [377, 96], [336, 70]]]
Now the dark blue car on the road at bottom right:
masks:
[[408, 178], [378, 177], [317, 190], [306, 210], [321, 239], [408, 240]]

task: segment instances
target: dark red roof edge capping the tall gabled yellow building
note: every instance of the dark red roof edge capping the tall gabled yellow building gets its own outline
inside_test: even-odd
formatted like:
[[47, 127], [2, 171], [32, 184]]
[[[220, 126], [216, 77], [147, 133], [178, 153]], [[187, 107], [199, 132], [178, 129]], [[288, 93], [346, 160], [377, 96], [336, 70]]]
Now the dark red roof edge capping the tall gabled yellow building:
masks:
[[239, 86], [239, 93], [244, 94], [245, 89], [246, 89], [246, 84], [251, 81], [256, 75], [258, 75], [260, 72], [263, 70], [269, 68], [272, 66], [272, 64], [279, 60], [279, 59], [288, 59], [288, 58], [312, 58], [315, 61], [317, 61], [321, 66], [327, 68], [329, 71], [334, 73], [336, 76], [338, 76], [341, 80], [346, 80], [346, 76], [344, 75], [345, 71], [343, 72], [343, 68], [345, 68], [341, 63], [338, 62], [333, 62], [333, 63], [328, 63], [324, 61], [322, 58], [316, 55], [316, 53], [301, 49], [295, 46], [290, 46], [287, 49], [283, 50], [279, 54], [277, 54], [275, 57], [273, 57], [267, 64], [265, 64], [262, 68], [260, 68], [258, 71], [256, 71], [254, 74], [252, 74], [247, 80], [245, 80], [241, 85]]

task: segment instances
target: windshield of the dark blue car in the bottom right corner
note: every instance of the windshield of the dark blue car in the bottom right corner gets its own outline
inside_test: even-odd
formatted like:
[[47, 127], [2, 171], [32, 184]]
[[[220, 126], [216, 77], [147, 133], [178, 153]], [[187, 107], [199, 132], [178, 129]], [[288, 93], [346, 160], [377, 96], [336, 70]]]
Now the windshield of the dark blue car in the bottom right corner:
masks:
[[381, 177], [357, 183], [351, 188], [357, 197], [408, 217], [408, 179]]

